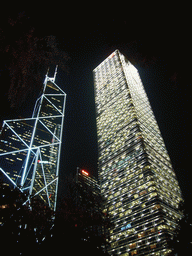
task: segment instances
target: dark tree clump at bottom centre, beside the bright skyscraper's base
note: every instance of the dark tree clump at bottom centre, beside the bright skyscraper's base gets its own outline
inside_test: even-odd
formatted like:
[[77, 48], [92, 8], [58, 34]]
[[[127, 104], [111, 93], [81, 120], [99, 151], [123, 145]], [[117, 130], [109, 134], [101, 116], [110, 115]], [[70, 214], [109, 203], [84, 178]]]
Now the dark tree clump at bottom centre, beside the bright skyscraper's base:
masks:
[[[112, 224], [109, 215], [103, 213], [103, 198], [90, 187], [82, 189], [74, 180], [68, 181], [68, 191], [68, 196], [63, 198], [56, 213], [58, 246], [65, 244], [69, 251], [73, 250], [74, 255], [77, 252], [108, 255], [108, 229]], [[75, 244], [74, 248], [71, 248], [72, 244]], [[73, 253], [71, 251], [71, 255]]]

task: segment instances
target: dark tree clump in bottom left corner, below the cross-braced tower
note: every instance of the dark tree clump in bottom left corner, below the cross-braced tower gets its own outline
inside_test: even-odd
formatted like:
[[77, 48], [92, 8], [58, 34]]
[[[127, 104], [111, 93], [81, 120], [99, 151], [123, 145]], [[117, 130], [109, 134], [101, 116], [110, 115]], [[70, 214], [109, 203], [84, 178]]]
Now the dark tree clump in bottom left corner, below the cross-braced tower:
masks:
[[17, 189], [1, 184], [0, 192], [2, 255], [37, 254], [50, 235], [54, 213], [38, 199], [24, 204], [27, 197]]

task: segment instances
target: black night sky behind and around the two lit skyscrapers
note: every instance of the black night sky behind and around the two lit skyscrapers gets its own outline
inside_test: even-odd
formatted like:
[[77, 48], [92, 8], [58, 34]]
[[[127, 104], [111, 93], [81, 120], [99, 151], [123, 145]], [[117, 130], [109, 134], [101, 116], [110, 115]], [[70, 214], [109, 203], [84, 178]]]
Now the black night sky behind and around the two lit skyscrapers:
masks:
[[[119, 12], [111, 6], [107, 13], [98, 7], [94, 11], [93, 7], [85, 11], [82, 6], [79, 9], [80, 6], [53, 5], [35, 10], [7, 10], [1, 17], [1, 22], [6, 23], [8, 17], [23, 13], [33, 24], [36, 35], [56, 36], [59, 47], [70, 57], [68, 71], [58, 68], [56, 78], [56, 83], [67, 93], [59, 198], [65, 192], [66, 177], [74, 175], [77, 166], [97, 176], [92, 70], [116, 49], [139, 70], [182, 192], [185, 198], [190, 198], [191, 79], [187, 18], [182, 18], [182, 22], [178, 18], [179, 7], [151, 16], [146, 12], [138, 14], [135, 9], [124, 10], [122, 6]], [[3, 67], [3, 60], [0, 62]], [[2, 68], [1, 103], [7, 97], [4, 87], [9, 87], [9, 79], [3, 72]], [[7, 101], [6, 109], [1, 107], [1, 119], [18, 113], [10, 110], [9, 104]], [[31, 104], [26, 103], [22, 111], [29, 117]]]

